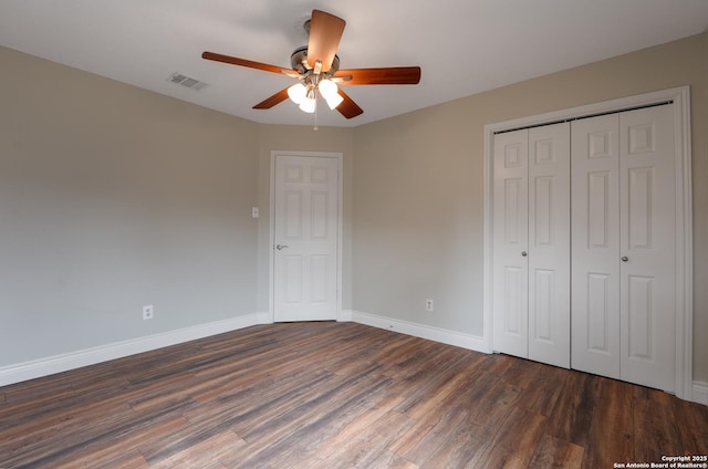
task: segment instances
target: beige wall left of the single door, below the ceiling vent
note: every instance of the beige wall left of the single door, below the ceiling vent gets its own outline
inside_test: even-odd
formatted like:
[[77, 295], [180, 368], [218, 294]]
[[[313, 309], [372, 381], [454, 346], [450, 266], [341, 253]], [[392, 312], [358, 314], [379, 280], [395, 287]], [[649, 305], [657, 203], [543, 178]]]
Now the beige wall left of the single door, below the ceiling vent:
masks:
[[256, 312], [257, 124], [0, 64], [0, 367]]

